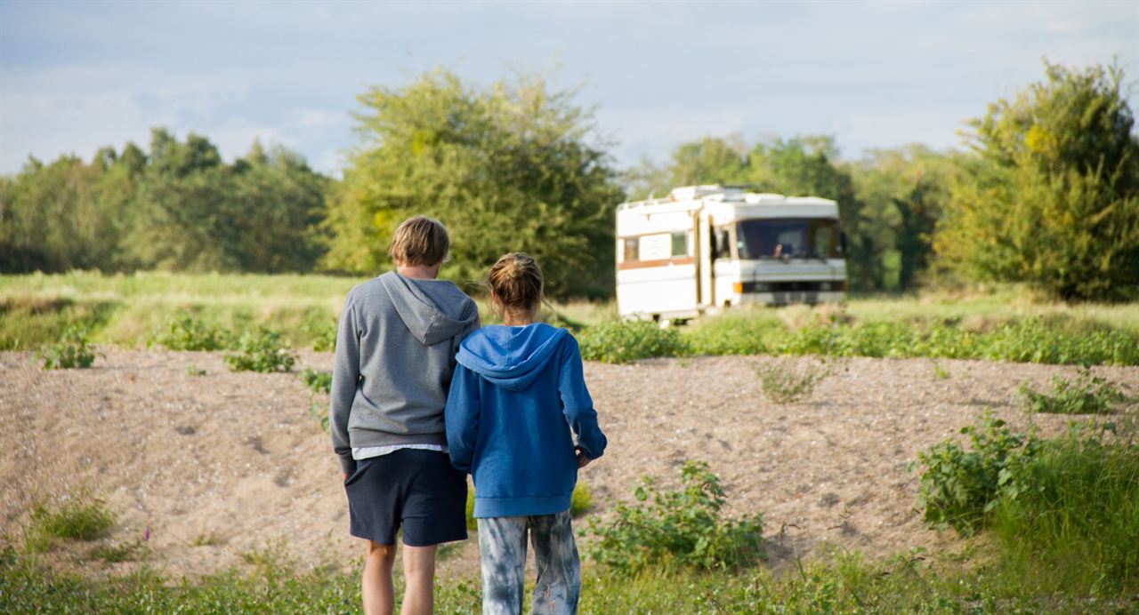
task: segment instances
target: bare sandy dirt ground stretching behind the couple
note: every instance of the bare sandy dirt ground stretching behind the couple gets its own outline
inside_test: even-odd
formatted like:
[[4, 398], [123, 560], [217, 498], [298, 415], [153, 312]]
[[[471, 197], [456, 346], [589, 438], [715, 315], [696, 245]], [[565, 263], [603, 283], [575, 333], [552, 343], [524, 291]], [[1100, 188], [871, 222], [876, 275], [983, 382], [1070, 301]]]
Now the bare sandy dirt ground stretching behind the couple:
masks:
[[[92, 368], [42, 371], [26, 352], [0, 352], [0, 535], [19, 543], [36, 502], [89, 493], [117, 516], [104, 543], [144, 542], [142, 562], [84, 560], [90, 546], [52, 557], [98, 574], [144, 563], [171, 579], [247, 565], [272, 550], [302, 570], [349, 566], [362, 554], [347, 535], [347, 504], [328, 435], [312, 415], [327, 404], [301, 382], [330, 369], [330, 354], [303, 352], [290, 374], [231, 373], [220, 354], [100, 348]], [[985, 408], [1023, 429], [1017, 388], [1044, 388], [1074, 367], [854, 358], [805, 400], [777, 405], [755, 366], [814, 358], [708, 357], [632, 365], [587, 363], [609, 438], [582, 472], [604, 520], [631, 500], [638, 477], [679, 482], [686, 459], [706, 460], [728, 492], [728, 513], [762, 512], [775, 565], [825, 548], [884, 557], [952, 548], [915, 510], [907, 464]], [[202, 374], [202, 372], [205, 372]], [[1139, 396], [1139, 368], [1095, 373]], [[944, 374], [942, 374], [944, 375]], [[1044, 435], [1070, 417], [1040, 415]], [[577, 522], [579, 527], [585, 523]], [[477, 570], [477, 543], [442, 554], [441, 575]]]

